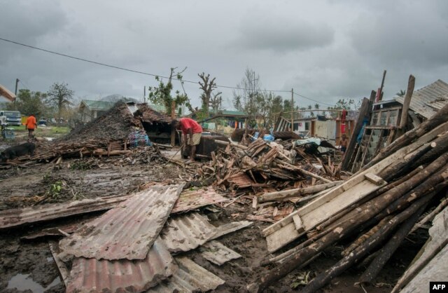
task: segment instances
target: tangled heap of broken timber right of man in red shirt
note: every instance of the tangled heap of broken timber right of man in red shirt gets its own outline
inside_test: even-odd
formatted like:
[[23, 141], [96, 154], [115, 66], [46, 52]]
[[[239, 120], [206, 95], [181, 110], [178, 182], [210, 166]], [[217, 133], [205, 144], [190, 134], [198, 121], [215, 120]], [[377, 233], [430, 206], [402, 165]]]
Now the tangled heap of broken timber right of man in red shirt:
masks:
[[[241, 144], [216, 141], [224, 144], [217, 154], [211, 153], [212, 160], [200, 166], [202, 177], [214, 178], [214, 184], [222, 190], [262, 188], [263, 191], [300, 187], [307, 182], [330, 183], [336, 168], [331, 160], [311, 157], [300, 149], [285, 149], [281, 144], [267, 143], [256, 139], [247, 147]], [[306, 159], [305, 159], [306, 158]], [[311, 160], [323, 167], [318, 170]], [[322, 161], [328, 162], [324, 165]]]

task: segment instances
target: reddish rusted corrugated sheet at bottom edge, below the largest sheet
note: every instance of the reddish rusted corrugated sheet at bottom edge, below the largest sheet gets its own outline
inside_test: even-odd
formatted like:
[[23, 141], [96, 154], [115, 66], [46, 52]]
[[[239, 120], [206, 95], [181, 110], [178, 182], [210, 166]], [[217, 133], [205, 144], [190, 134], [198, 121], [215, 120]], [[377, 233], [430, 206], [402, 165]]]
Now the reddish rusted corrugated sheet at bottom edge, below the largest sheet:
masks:
[[158, 238], [144, 260], [74, 259], [66, 292], [142, 292], [176, 269], [174, 259]]

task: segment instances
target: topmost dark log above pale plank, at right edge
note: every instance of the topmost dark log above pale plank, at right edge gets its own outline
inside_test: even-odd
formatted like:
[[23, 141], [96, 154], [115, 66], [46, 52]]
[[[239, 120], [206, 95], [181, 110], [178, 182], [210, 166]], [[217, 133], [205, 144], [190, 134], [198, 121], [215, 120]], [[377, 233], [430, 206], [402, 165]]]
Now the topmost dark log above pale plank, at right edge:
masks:
[[439, 125], [447, 123], [446, 121], [448, 121], [448, 104], [445, 105], [439, 111], [437, 111], [437, 113], [434, 114], [433, 117], [421, 123], [418, 128], [409, 130], [404, 135], [398, 137], [398, 139], [395, 139], [395, 141], [389, 144], [387, 147], [381, 149], [379, 154], [376, 157], [374, 157], [372, 161], [367, 163], [367, 165], [361, 168], [361, 170], [366, 170], [367, 168], [370, 168], [372, 165], [390, 156], [395, 151], [398, 151], [398, 149], [407, 146], [414, 139], [421, 137], [422, 135], [428, 133], [430, 130], [433, 130], [433, 128], [436, 128]]

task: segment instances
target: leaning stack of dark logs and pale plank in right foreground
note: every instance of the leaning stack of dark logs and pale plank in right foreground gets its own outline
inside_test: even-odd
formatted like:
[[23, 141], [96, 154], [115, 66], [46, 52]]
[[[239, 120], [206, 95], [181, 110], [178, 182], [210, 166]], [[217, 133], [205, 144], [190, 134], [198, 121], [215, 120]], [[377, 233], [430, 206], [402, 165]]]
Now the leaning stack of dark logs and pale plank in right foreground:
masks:
[[[274, 268], [249, 286], [251, 292], [262, 292], [347, 236], [358, 238], [344, 250], [337, 264], [317, 275], [302, 292], [316, 292], [363, 259], [368, 266], [360, 284], [374, 283], [428, 205], [447, 190], [447, 121], [445, 106], [382, 149], [350, 179], [264, 229], [269, 252], [300, 236], [306, 235], [307, 239], [300, 238], [302, 241], [296, 241], [292, 249], [263, 261]], [[445, 245], [446, 241], [435, 251], [444, 253]]]

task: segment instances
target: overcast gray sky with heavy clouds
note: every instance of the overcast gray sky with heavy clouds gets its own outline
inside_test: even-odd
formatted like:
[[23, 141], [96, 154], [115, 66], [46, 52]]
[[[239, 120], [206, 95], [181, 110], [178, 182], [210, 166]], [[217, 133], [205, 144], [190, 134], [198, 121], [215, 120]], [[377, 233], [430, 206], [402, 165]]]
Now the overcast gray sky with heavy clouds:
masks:
[[[385, 97], [448, 82], [448, 1], [52, 1], [0, 0], [0, 38], [152, 74], [188, 67], [236, 86], [244, 69], [262, 88], [326, 104], [368, 96], [387, 69]], [[0, 83], [46, 91], [69, 83], [76, 97], [143, 99], [152, 76], [101, 67], [0, 41]], [[176, 89], [180, 85], [174, 83]], [[197, 84], [186, 83], [198, 106]], [[224, 107], [232, 90], [221, 88]], [[279, 93], [290, 98], [288, 93]], [[314, 104], [295, 97], [300, 106]]]

